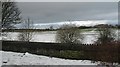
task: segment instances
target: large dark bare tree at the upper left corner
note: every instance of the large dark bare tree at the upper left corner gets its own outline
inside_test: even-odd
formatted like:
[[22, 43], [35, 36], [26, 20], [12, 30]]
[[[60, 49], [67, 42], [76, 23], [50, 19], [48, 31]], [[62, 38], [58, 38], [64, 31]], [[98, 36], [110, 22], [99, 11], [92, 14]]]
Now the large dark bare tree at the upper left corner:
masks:
[[16, 2], [10, 0], [2, 2], [2, 28], [13, 28], [15, 24], [20, 23], [20, 13]]

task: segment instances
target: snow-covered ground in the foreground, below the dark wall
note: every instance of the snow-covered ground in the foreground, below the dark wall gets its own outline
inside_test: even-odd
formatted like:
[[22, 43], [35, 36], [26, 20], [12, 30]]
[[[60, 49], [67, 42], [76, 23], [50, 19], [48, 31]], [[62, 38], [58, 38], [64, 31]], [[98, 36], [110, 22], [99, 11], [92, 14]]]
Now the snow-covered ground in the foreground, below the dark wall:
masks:
[[89, 60], [68, 60], [29, 53], [0, 51], [0, 54], [2, 65], [97, 65]]

